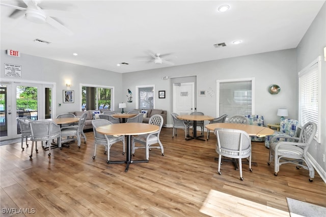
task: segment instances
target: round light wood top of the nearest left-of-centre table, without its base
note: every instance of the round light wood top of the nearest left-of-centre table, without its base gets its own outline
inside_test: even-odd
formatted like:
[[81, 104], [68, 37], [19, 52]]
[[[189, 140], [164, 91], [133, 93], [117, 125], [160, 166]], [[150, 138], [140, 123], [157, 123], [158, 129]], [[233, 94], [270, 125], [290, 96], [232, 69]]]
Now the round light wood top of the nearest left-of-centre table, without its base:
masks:
[[106, 125], [106, 126], [101, 126], [96, 128], [97, 132], [105, 135], [124, 135], [124, 136], [154, 133], [158, 130], [159, 130], [158, 126], [149, 125], [148, 123], [115, 123], [114, 125]]

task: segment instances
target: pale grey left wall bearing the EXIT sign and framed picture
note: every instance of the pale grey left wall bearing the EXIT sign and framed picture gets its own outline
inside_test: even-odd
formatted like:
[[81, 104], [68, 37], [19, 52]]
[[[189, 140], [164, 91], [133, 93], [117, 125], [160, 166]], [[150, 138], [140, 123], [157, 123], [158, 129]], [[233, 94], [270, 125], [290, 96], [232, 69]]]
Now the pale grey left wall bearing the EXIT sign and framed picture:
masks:
[[[8, 79], [4, 76], [4, 64], [21, 65], [21, 78], [10, 78], [19, 81], [42, 81], [56, 83], [56, 114], [67, 113], [70, 111], [80, 111], [82, 108], [82, 96], [79, 91], [79, 83], [105, 85], [115, 87], [115, 99], [122, 98], [122, 75], [120, 73], [69, 64], [62, 61], [21, 54], [20, 57], [13, 57], [1, 50], [1, 80]], [[71, 81], [71, 86], [66, 86], [66, 80]], [[64, 89], [74, 90], [75, 102], [62, 103]], [[58, 104], [61, 103], [61, 106]], [[116, 101], [115, 110], [118, 110]]]

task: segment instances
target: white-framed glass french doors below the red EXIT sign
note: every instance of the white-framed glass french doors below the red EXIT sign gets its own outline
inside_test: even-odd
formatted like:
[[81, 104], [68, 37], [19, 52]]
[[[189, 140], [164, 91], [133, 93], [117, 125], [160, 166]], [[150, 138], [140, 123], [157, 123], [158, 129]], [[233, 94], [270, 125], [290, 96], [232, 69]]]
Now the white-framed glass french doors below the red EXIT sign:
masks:
[[20, 137], [17, 117], [26, 117], [31, 120], [51, 118], [52, 86], [0, 82], [1, 140]]

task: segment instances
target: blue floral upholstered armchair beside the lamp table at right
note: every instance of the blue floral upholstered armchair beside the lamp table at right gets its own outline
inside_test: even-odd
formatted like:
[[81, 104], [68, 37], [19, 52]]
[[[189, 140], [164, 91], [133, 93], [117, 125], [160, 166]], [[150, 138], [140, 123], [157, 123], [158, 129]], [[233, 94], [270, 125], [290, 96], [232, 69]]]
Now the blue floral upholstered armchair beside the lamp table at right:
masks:
[[[285, 135], [296, 137], [298, 121], [294, 119], [283, 119], [280, 122], [280, 131], [274, 131], [273, 135], [265, 136], [265, 146], [269, 148], [269, 142], [273, 141], [273, 136]], [[276, 141], [294, 142], [293, 139], [277, 138]], [[275, 142], [275, 141], [273, 141]]]

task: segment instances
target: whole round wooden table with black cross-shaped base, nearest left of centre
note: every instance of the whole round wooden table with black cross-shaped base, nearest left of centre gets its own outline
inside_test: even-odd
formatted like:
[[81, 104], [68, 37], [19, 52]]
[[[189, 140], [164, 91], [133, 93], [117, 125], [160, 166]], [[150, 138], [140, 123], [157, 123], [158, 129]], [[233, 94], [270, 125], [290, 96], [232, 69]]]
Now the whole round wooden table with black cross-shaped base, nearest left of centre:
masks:
[[[136, 114], [137, 115], [137, 114]], [[115, 123], [114, 125], [105, 125], [96, 128], [96, 131], [105, 135], [127, 136], [127, 154], [126, 161], [110, 161], [109, 164], [127, 164], [125, 172], [128, 171], [129, 164], [148, 163], [148, 160], [131, 161], [131, 136], [154, 133], [159, 130], [157, 125], [148, 123]]]

